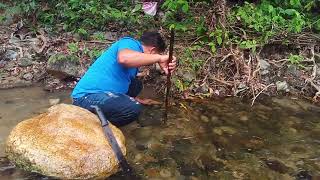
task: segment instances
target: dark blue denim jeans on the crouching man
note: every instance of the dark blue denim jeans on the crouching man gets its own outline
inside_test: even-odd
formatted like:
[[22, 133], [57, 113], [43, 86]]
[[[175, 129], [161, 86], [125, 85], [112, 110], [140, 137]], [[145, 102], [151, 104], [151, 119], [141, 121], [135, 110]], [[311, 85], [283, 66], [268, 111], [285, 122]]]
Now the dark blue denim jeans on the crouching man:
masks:
[[116, 126], [123, 126], [139, 117], [142, 106], [133, 97], [142, 90], [142, 83], [133, 80], [127, 94], [96, 93], [73, 99], [73, 104], [94, 112], [91, 105], [98, 105], [106, 118]]

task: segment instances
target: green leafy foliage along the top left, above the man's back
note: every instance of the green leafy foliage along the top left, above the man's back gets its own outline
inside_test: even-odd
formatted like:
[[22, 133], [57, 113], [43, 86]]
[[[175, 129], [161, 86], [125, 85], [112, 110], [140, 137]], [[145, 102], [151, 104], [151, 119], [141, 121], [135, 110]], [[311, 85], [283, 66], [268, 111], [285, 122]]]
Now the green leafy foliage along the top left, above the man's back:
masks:
[[33, 17], [43, 25], [63, 24], [66, 31], [85, 35], [82, 30], [105, 30], [109, 24], [130, 27], [138, 23], [141, 12], [141, 5], [132, 9], [131, 0], [14, 0], [12, 4], [21, 17]]

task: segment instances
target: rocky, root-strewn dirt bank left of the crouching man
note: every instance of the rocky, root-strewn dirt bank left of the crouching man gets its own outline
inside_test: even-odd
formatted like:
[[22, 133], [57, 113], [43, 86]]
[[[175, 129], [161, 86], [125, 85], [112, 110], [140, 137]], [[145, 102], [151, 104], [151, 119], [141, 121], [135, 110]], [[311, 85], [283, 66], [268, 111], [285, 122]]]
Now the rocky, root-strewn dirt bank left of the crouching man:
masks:
[[70, 33], [30, 31], [20, 23], [0, 27], [0, 89], [35, 83], [49, 91], [73, 88], [101, 51], [118, 38], [117, 33], [107, 32], [108, 40], [83, 41]]

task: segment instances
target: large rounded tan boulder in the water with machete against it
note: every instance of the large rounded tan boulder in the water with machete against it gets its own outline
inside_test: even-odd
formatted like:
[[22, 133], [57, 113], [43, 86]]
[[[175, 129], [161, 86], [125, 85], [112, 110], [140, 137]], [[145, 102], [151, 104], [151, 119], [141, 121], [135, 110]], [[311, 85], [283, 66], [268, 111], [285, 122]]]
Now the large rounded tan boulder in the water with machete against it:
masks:
[[[126, 154], [124, 135], [110, 127]], [[61, 179], [104, 178], [119, 169], [98, 117], [66, 104], [19, 123], [8, 137], [6, 153], [18, 167]]]

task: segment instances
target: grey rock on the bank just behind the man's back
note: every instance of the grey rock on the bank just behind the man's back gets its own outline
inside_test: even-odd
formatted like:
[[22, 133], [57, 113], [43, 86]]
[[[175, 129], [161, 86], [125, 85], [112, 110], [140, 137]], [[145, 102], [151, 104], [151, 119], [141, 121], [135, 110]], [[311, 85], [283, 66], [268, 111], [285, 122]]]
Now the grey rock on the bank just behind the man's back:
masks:
[[47, 71], [59, 79], [68, 77], [81, 77], [83, 71], [80, 67], [79, 58], [63, 54], [52, 55], [47, 63]]

